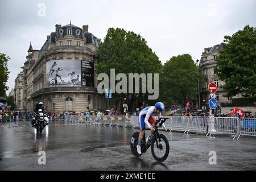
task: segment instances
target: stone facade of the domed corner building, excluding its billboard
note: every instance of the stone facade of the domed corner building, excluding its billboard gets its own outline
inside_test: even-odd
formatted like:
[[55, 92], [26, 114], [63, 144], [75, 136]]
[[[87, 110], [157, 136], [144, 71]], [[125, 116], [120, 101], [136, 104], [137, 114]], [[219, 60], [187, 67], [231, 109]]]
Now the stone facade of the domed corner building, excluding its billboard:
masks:
[[[30, 44], [27, 60], [15, 80], [15, 104], [20, 111], [34, 110], [36, 102], [43, 102], [48, 111], [85, 111], [106, 109], [106, 101], [97, 93], [97, 48], [101, 40], [82, 28], [56, 24], [55, 32], [47, 36], [40, 50]], [[94, 63], [94, 86], [47, 86], [46, 64], [52, 60], [89, 60]], [[22, 80], [23, 79], [23, 80]], [[19, 82], [22, 80], [21, 82]], [[20, 85], [20, 83], [22, 85]], [[22, 90], [19, 91], [18, 90]], [[19, 100], [20, 98], [20, 100]], [[19, 103], [21, 103], [19, 105]]]

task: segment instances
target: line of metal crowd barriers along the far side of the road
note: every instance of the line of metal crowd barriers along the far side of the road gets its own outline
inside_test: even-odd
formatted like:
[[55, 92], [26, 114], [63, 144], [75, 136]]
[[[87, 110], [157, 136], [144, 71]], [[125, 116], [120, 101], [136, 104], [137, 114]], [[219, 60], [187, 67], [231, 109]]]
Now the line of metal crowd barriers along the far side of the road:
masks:
[[[14, 117], [3, 115], [1, 122], [21, 122], [31, 121], [32, 116]], [[234, 138], [240, 139], [241, 135], [256, 137], [255, 127], [256, 118], [237, 118], [237, 117], [214, 117], [214, 123], [210, 130], [209, 117], [187, 117], [187, 116], [169, 116], [165, 125], [171, 131], [182, 131], [188, 134], [190, 131], [196, 133], [207, 133], [207, 136], [212, 134], [229, 134], [234, 135]], [[126, 118], [124, 115], [64, 115], [63, 117], [51, 118], [50, 121], [57, 120], [68, 123], [84, 123], [86, 125], [98, 126], [123, 126], [131, 127], [132, 129], [140, 128], [139, 117], [131, 116]]]

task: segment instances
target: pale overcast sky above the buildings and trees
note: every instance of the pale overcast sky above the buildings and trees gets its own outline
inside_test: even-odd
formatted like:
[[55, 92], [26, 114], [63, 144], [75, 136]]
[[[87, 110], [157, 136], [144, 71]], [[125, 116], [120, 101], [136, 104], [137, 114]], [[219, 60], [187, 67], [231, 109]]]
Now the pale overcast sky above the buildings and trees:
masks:
[[183, 53], [200, 59], [204, 48], [222, 43], [224, 35], [246, 24], [255, 27], [255, 17], [255, 0], [0, 0], [0, 52], [11, 57], [7, 94], [22, 70], [30, 41], [40, 49], [55, 24], [88, 24], [89, 32], [101, 40], [109, 27], [134, 31], [164, 64]]

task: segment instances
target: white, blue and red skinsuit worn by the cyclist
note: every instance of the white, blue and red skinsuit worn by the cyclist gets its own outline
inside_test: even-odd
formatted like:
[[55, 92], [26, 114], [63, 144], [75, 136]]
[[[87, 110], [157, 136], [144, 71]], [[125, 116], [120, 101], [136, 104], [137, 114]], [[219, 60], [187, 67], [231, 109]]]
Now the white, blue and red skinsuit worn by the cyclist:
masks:
[[[155, 123], [155, 106], [149, 106], [141, 110], [139, 113], [139, 123], [141, 125], [141, 130], [146, 130], [147, 127], [152, 127], [151, 125]], [[158, 118], [161, 117], [161, 113], [158, 115]], [[151, 125], [150, 125], [151, 124]], [[164, 123], [162, 125], [164, 126]]]

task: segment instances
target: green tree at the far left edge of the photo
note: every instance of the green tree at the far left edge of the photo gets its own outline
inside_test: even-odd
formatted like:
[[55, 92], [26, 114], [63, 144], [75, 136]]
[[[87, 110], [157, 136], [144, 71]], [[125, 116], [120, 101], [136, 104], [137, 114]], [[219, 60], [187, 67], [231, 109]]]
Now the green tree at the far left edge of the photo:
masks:
[[6, 96], [6, 90], [8, 90], [8, 86], [6, 86], [6, 82], [9, 78], [9, 69], [7, 66], [8, 61], [10, 60], [9, 56], [6, 56], [4, 53], [0, 53], [0, 96]]

